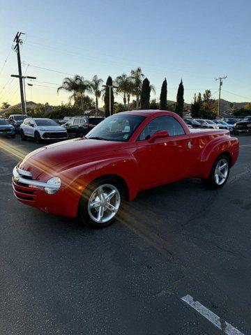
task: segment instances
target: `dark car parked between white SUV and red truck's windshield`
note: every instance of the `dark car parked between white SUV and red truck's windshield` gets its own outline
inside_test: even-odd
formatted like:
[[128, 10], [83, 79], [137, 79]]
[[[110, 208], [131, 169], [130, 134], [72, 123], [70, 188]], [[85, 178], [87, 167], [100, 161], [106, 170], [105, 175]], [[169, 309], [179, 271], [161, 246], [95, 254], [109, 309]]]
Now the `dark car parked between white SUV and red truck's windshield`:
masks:
[[63, 127], [66, 128], [68, 137], [83, 137], [103, 120], [103, 117], [73, 117]]

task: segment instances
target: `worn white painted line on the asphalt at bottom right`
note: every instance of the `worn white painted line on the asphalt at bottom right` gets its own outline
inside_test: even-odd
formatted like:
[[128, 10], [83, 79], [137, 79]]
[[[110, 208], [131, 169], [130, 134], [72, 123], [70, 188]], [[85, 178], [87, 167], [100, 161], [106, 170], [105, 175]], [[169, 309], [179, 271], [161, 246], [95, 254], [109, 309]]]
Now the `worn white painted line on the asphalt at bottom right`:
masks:
[[181, 300], [185, 301], [189, 306], [195, 308], [197, 312], [204, 316], [207, 320], [213, 323], [215, 327], [219, 328], [222, 331], [222, 334], [227, 335], [244, 335], [238, 329], [234, 328], [233, 326], [229, 325], [228, 322], [219, 318], [218, 315], [211, 312], [208, 308], [201, 305], [199, 301], [194, 301], [193, 297], [190, 295], [185, 295], [185, 297], [181, 298]]

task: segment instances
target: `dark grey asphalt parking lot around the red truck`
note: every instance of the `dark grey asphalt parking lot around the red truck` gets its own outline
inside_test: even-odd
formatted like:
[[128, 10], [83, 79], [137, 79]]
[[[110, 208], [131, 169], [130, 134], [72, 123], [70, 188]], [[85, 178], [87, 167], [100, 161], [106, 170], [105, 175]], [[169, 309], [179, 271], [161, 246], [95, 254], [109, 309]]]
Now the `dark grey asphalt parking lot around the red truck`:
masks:
[[251, 136], [238, 138], [221, 190], [144, 191], [96, 231], [17, 202], [13, 167], [43, 144], [0, 138], [0, 334], [251, 334]]

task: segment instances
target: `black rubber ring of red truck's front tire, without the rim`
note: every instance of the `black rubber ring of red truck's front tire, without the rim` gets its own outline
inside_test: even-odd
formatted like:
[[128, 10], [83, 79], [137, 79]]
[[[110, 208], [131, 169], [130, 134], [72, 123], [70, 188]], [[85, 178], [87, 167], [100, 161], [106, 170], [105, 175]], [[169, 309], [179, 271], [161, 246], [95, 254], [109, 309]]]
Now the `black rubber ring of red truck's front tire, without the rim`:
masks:
[[[121, 197], [121, 204], [119, 207], [119, 211], [117, 211], [116, 215], [113, 218], [111, 218], [109, 221], [105, 223], [97, 223], [96, 221], [93, 221], [91, 216], [89, 216], [88, 202], [89, 202], [91, 193], [93, 193], [93, 191], [98, 186], [101, 186], [103, 184], [111, 184], [119, 190], [119, 194]], [[123, 207], [124, 198], [125, 197], [124, 197], [123, 186], [121, 186], [119, 181], [117, 181], [116, 179], [104, 178], [104, 179], [93, 181], [89, 186], [85, 188], [83, 195], [79, 201], [79, 208], [78, 208], [79, 215], [78, 216], [79, 216], [81, 223], [83, 223], [84, 225], [86, 225], [86, 227], [91, 228], [91, 229], [101, 229], [101, 228], [108, 227], [109, 225], [112, 225], [112, 223], [114, 223], [114, 221], [116, 221], [117, 218], [119, 218], [121, 214], [121, 208]]]

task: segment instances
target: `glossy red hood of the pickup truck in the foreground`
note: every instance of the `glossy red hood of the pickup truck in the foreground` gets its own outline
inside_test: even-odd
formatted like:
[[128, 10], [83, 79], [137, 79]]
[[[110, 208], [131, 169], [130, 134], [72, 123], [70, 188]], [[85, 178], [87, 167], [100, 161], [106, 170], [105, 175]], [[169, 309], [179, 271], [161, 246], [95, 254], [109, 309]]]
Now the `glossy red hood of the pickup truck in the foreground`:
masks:
[[32, 151], [18, 166], [31, 172], [33, 179], [37, 179], [43, 172], [55, 175], [56, 172], [61, 172], [76, 164], [93, 161], [97, 156], [105, 156], [108, 151], [119, 149], [123, 144], [126, 142], [76, 138]]

